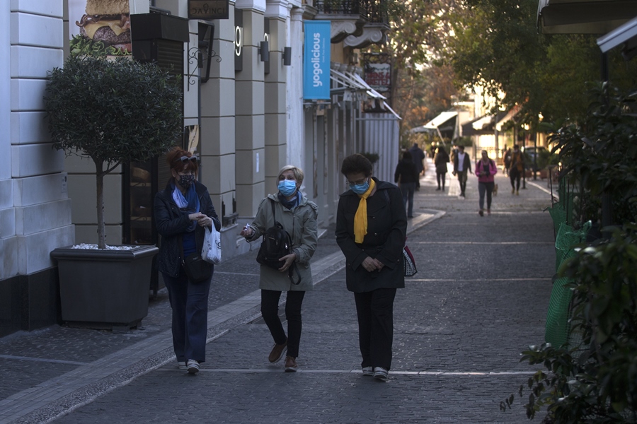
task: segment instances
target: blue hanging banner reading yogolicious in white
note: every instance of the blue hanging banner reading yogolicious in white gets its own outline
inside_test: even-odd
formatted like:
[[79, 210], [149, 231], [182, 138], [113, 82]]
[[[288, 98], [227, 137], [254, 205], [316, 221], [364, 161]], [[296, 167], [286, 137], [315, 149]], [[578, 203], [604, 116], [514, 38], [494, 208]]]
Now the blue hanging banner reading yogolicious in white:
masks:
[[305, 20], [304, 100], [330, 100], [330, 21]]

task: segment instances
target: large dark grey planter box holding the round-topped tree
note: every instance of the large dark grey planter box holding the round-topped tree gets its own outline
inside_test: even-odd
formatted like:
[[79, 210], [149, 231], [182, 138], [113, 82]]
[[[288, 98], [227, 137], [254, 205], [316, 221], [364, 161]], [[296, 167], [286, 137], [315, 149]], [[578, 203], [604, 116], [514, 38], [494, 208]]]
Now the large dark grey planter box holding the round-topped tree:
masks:
[[157, 252], [155, 246], [54, 249], [62, 321], [92, 329], [137, 326], [148, 315], [151, 266]]

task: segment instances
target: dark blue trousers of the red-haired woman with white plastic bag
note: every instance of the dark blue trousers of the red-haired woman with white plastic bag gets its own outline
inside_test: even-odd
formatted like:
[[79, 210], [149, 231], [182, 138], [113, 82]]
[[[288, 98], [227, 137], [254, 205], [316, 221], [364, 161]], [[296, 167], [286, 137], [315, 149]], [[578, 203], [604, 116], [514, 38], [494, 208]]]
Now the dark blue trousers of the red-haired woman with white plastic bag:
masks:
[[162, 273], [173, 310], [173, 349], [177, 360], [206, 360], [208, 332], [208, 293], [212, 278], [201, 283], [190, 283], [183, 269], [173, 278]]

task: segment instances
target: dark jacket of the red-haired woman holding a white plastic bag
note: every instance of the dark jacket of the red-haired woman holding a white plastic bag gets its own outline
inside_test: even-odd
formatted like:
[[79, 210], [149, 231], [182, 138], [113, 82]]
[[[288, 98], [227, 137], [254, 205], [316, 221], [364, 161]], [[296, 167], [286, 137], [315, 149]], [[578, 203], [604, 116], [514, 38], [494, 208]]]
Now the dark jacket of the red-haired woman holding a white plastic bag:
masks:
[[[195, 192], [197, 192], [199, 197], [200, 212], [210, 216], [214, 223], [214, 228], [217, 228], [217, 231], [221, 230], [221, 223], [219, 223], [217, 212], [214, 211], [206, 186], [195, 181]], [[154, 215], [157, 232], [161, 235], [159, 254], [157, 254], [159, 272], [167, 273], [171, 277], [178, 277], [179, 267], [181, 266], [179, 244], [181, 235], [190, 226], [190, 220], [188, 219], [188, 213], [181, 211], [179, 206], [173, 201], [173, 189], [170, 181], [166, 185], [166, 189], [155, 194]], [[200, 252], [203, 247], [204, 236], [205, 229], [197, 225], [197, 228], [195, 228], [197, 252]]]

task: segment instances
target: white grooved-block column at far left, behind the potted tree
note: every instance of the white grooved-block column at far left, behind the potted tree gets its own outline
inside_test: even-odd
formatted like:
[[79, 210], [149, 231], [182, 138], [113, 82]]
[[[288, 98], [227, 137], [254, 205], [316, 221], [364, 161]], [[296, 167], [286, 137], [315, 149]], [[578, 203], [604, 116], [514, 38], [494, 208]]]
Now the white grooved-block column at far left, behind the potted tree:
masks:
[[74, 242], [64, 153], [52, 148], [42, 100], [48, 71], [64, 61], [63, 4], [11, 2], [11, 177], [15, 264], [23, 275], [50, 268], [49, 252]]

